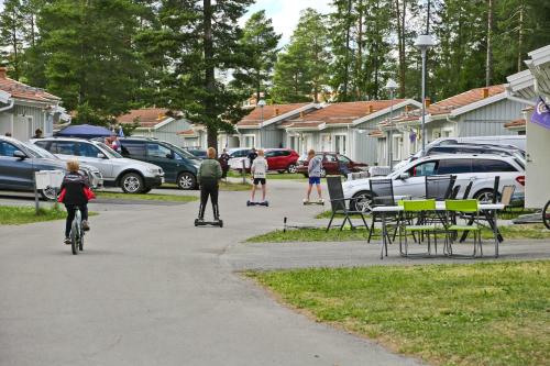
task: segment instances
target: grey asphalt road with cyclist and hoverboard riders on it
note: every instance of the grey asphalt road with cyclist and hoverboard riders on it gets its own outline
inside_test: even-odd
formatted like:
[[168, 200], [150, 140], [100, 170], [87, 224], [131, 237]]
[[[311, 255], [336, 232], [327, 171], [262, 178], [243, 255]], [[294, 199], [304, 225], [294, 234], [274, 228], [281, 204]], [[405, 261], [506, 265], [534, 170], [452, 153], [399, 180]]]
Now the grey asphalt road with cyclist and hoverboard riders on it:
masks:
[[223, 229], [194, 228], [196, 202], [91, 204], [78, 256], [63, 222], [0, 226], [0, 365], [417, 364], [235, 274], [239, 242], [322, 210], [301, 204], [298, 182], [272, 185], [270, 208], [246, 208], [248, 195], [221, 192]]

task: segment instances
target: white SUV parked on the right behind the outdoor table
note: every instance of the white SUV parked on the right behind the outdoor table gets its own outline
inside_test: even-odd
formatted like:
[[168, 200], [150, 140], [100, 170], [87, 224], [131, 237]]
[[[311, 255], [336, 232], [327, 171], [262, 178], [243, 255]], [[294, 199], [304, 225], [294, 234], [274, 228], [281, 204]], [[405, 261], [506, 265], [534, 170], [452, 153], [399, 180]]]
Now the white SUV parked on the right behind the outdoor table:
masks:
[[470, 198], [491, 200], [495, 177], [501, 177], [499, 188], [516, 186], [516, 192], [524, 192], [525, 163], [514, 156], [499, 155], [435, 155], [421, 157], [394, 170], [386, 177], [349, 180], [343, 184], [345, 198], [360, 198], [358, 208], [371, 202], [370, 179], [393, 179], [394, 196], [421, 198], [426, 195], [425, 176], [453, 175], [454, 185], [460, 185], [458, 197], [464, 195], [470, 181], [473, 181]]

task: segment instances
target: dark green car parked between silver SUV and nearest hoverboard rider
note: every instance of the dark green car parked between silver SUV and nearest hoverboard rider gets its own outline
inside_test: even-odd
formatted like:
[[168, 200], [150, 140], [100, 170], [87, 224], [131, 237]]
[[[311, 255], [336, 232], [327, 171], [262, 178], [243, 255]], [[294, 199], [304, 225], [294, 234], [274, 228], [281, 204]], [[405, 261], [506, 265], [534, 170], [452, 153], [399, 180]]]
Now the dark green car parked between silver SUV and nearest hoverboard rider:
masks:
[[165, 141], [128, 137], [119, 138], [122, 156], [157, 165], [164, 170], [167, 182], [180, 189], [197, 187], [200, 160], [189, 152]]

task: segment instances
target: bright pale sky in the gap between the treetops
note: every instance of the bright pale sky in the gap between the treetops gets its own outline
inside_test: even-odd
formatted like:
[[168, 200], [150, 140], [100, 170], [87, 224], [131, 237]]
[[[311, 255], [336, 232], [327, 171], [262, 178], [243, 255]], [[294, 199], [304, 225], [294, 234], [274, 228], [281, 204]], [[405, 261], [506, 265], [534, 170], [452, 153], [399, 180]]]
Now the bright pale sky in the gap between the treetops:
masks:
[[283, 34], [279, 42], [279, 45], [283, 46], [290, 40], [301, 10], [312, 8], [326, 14], [330, 11], [331, 2], [331, 0], [256, 0], [256, 3], [251, 5], [249, 12], [243, 16], [242, 25], [252, 13], [265, 10], [265, 15], [273, 20], [275, 32]]

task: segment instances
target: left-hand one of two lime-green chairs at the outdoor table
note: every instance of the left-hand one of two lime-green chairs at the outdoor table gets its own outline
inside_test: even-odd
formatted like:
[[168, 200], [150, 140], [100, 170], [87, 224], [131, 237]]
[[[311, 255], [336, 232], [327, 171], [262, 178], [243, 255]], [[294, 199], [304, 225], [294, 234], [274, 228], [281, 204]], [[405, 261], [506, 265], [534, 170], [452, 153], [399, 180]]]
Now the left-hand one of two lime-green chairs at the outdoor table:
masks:
[[[422, 214], [425, 212], [436, 211], [436, 200], [403, 200], [399, 202], [403, 206], [403, 211], [407, 220], [402, 220], [400, 225], [400, 235], [399, 235], [399, 252], [403, 256], [406, 257], [429, 257], [431, 256], [431, 241], [430, 234], [433, 234], [433, 244], [436, 248], [436, 254], [438, 253], [438, 241], [437, 241], [437, 231], [438, 228], [435, 223], [431, 224], [420, 224], [420, 225], [408, 225], [407, 222], [413, 221], [414, 214]], [[411, 233], [413, 236], [415, 233], [422, 234], [426, 233], [426, 237], [428, 239], [428, 252], [427, 253], [409, 253], [408, 247], [408, 233]], [[421, 235], [419, 235], [420, 237]], [[405, 239], [405, 251], [403, 251], [403, 241], [402, 237]], [[415, 237], [415, 236], [414, 236]]]

